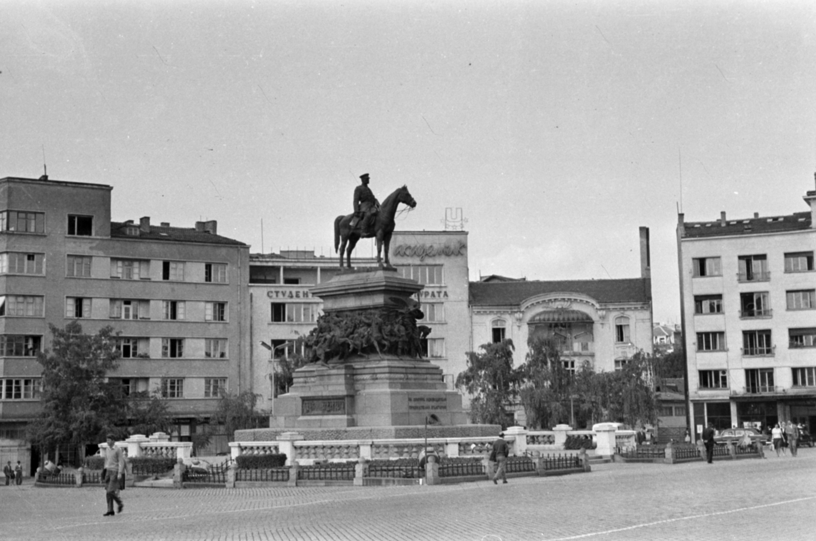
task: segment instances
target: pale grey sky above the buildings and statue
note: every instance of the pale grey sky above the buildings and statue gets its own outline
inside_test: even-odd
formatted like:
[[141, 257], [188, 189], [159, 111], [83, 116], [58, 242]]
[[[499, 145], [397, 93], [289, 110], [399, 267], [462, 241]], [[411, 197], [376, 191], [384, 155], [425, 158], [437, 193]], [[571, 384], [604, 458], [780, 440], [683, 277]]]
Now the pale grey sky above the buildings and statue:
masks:
[[[651, 231], [805, 211], [814, 2], [0, 2], [0, 177], [113, 186], [113, 220], [329, 255], [362, 173], [397, 228], [468, 220], [472, 279], [625, 278]], [[370, 255], [361, 243], [357, 255]]]

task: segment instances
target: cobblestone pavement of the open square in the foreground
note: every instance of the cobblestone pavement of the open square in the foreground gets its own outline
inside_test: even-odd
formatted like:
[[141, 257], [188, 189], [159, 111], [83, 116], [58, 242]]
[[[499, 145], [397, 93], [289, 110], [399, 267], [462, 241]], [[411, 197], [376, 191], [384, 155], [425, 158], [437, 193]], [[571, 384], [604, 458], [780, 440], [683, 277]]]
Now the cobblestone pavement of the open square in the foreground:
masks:
[[609, 463], [446, 486], [167, 490], [0, 486], [0, 539], [816, 539], [816, 449], [713, 464]]

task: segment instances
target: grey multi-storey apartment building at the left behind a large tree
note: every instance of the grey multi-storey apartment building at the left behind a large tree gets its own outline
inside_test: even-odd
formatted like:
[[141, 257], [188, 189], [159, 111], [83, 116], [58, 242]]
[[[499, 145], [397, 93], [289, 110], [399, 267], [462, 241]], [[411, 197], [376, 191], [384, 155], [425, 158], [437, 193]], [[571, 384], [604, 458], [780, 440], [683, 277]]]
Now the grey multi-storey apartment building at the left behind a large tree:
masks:
[[9, 445], [38, 413], [36, 357], [49, 348], [49, 324], [120, 332], [110, 378], [168, 399], [177, 439], [215, 412], [221, 389], [249, 382], [249, 246], [218, 235], [215, 220], [113, 222], [112, 190], [0, 179], [0, 439]]

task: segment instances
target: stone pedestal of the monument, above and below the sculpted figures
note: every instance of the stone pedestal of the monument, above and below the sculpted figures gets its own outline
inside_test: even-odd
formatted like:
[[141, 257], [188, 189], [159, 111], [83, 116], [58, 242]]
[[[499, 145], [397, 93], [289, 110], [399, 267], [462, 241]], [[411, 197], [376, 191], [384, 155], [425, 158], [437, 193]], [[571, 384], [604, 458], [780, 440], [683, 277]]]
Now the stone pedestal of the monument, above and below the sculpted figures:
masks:
[[[396, 270], [341, 273], [315, 286], [326, 313], [401, 308], [423, 286]], [[295, 370], [290, 391], [273, 401], [270, 427], [351, 428], [468, 423], [459, 392], [449, 391], [442, 370], [422, 358], [355, 353]]]

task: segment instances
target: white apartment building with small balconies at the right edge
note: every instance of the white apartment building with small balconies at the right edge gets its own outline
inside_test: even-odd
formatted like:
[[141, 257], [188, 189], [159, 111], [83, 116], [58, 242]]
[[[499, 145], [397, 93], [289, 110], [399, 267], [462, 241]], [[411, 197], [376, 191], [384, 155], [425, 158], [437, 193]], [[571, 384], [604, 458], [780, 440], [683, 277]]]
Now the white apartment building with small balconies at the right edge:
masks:
[[677, 252], [691, 425], [816, 428], [816, 192], [809, 211], [685, 222]]

